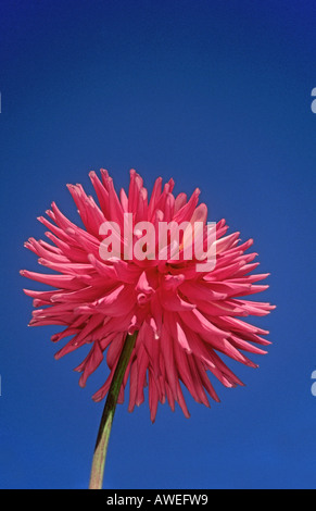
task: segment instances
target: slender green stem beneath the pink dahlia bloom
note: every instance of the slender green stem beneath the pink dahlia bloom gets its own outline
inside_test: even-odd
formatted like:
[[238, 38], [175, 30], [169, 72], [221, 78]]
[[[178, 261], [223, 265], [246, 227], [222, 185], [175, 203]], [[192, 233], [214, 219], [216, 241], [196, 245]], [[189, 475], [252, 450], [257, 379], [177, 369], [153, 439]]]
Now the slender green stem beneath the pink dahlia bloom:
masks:
[[127, 364], [131, 356], [131, 351], [135, 347], [137, 334], [138, 332], [135, 332], [132, 335], [127, 334], [126, 340], [125, 340], [125, 344], [124, 344], [124, 347], [123, 347], [123, 350], [122, 350], [122, 353], [121, 353], [121, 357], [119, 357], [119, 360], [116, 365], [115, 373], [111, 383], [111, 387], [108, 392], [108, 398], [106, 398], [103, 414], [101, 417], [93, 459], [92, 459], [89, 489], [102, 489], [109, 438], [110, 438], [114, 413], [115, 413], [115, 409], [117, 404], [118, 394], [122, 387], [122, 383], [123, 383]]

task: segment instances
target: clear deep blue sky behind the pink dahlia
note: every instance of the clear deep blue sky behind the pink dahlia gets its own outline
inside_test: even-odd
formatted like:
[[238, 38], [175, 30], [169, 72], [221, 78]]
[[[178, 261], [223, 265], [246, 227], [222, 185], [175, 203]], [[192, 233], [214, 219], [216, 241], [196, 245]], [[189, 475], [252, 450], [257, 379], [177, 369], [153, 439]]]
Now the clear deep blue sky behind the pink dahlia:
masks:
[[316, 7], [312, 1], [2, 1], [0, 7], [0, 487], [86, 488], [102, 403], [55, 361], [54, 327], [28, 328], [24, 241], [66, 189], [105, 167], [126, 187], [174, 177], [202, 190], [210, 221], [254, 238], [270, 331], [245, 387], [214, 382], [222, 402], [148, 401], [116, 411], [109, 488], [315, 488]]

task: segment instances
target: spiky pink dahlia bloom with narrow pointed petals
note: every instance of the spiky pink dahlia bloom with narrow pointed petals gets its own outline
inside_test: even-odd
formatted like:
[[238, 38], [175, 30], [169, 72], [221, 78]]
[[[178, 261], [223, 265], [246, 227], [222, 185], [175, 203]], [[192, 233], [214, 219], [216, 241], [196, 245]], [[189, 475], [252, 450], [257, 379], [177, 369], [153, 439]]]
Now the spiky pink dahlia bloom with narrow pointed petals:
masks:
[[[128, 194], [122, 189], [117, 196], [108, 171], [101, 170], [101, 179], [94, 172], [89, 176], [99, 204], [81, 185], [68, 185], [83, 226], [71, 222], [53, 202], [48, 219], [38, 219], [49, 229], [46, 235], [50, 242], [30, 238], [25, 244], [39, 257], [39, 264], [55, 272], [21, 272], [50, 286], [43, 291], [24, 289], [34, 299], [29, 325], [64, 327], [51, 338], [53, 342], [69, 338], [55, 353], [56, 359], [90, 345], [76, 367], [81, 373], [81, 387], [105, 358], [110, 372], [93, 395], [96, 401], [108, 394], [126, 335], [137, 331], [118, 402], [124, 401], [129, 379], [129, 411], [143, 402], [148, 386], [152, 421], [157, 403], [166, 399], [173, 410], [178, 402], [189, 416], [180, 383], [198, 402], [210, 406], [207, 394], [219, 401], [210, 373], [225, 387], [243, 385], [220, 354], [255, 367], [244, 352], [266, 353], [263, 347], [270, 342], [262, 336], [268, 332], [240, 317], [263, 316], [274, 309], [269, 303], [244, 299], [268, 287], [256, 284], [268, 274], [251, 273], [258, 265], [253, 262], [256, 253], [245, 253], [253, 240], [240, 244], [240, 233], [226, 235], [225, 220], [215, 224], [216, 264], [212, 271], [198, 271], [194, 257], [181, 257], [184, 233], [178, 258], [162, 260], [157, 253], [143, 259], [131, 253], [126, 258], [122, 233], [127, 213], [132, 226], [150, 222], [157, 232], [160, 222], [191, 225], [199, 221], [205, 234], [207, 209], [199, 204], [200, 190], [194, 190], [189, 200], [184, 192], [175, 197], [173, 179], [163, 186], [157, 178], [149, 197], [142, 178], [131, 170]], [[116, 233], [121, 253], [106, 260], [100, 256], [104, 222], [121, 227]], [[129, 242], [135, 245], [140, 237], [134, 230]]]

